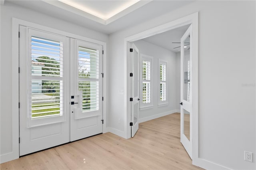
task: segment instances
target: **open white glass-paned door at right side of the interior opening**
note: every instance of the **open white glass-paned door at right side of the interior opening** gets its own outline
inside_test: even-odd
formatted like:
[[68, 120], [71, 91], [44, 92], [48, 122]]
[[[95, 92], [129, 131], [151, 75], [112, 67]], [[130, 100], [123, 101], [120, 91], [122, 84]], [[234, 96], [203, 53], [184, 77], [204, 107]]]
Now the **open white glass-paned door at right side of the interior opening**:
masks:
[[192, 26], [181, 38], [180, 142], [192, 158]]

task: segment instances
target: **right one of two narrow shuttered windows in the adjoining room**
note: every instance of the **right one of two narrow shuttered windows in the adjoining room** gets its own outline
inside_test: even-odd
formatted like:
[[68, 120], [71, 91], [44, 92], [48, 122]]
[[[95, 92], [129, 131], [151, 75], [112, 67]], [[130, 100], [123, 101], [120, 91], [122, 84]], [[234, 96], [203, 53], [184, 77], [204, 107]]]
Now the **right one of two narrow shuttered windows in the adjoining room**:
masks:
[[167, 61], [158, 60], [158, 106], [168, 105]]

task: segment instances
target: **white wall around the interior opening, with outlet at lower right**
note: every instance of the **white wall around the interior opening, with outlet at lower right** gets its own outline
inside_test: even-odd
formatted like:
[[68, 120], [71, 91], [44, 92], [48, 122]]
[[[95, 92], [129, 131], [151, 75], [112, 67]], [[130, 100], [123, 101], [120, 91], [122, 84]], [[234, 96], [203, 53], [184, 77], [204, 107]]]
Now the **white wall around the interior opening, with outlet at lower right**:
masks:
[[[255, 1], [196, 1], [110, 35], [110, 115], [124, 132], [124, 38], [199, 12], [199, 158], [212, 169], [255, 169], [244, 150], [256, 154]], [[115, 92], [115, 93], [114, 93]], [[123, 122], [122, 122], [123, 123]], [[218, 166], [220, 165], [220, 166]]]

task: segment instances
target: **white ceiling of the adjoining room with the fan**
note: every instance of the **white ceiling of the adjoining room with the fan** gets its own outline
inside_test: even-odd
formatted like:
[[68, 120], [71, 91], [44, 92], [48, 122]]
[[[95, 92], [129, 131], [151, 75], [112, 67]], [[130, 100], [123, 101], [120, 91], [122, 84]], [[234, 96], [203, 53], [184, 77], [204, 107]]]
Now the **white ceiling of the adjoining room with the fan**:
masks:
[[[182, 26], [180, 28], [163, 32], [161, 34], [144, 38], [142, 40], [177, 53], [177, 52], [180, 52], [180, 47], [179, 47], [180, 43], [172, 43], [172, 42], [180, 42], [180, 38], [186, 32], [188, 27], [189, 25]], [[178, 48], [175, 48], [175, 47], [178, 47]]]

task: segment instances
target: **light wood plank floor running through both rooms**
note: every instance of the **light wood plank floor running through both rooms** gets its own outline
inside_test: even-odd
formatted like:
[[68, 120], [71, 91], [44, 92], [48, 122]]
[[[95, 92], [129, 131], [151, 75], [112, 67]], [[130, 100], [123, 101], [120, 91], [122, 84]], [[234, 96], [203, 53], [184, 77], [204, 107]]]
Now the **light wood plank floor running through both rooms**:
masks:
[[180, 113], [140, 123], [134, 138], [99, 134], [0, 164], [8, 169], [188, 170], [192, 165], [180, 143]]

